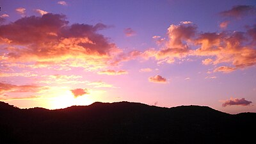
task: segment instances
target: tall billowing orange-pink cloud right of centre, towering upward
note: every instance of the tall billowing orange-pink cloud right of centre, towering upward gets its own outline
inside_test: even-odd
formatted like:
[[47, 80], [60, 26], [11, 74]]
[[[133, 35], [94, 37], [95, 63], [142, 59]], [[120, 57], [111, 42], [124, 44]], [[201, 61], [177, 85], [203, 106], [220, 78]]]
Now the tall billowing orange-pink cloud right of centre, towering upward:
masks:
[[[163, 44], [163, 47], [159, 51], [155, 49], [148, 49], [145, 52], [141, 52], [142, 58], [155, 58], [158, 64], [161, 63], [173, 63], [175, 59], [180, 59], [188, 56], [191, 49], [186, 42], [193, 41], [196, 35], [197, 26], [192, 22], [180, 22], [180, 24], [172, 24], [168, 28], [168, 38], [161, 38], [158, 44]], [[154, 39], [160, 38], [159, 36], [153, 36]], [[159, 39], [158, 39], [159, 40]]]

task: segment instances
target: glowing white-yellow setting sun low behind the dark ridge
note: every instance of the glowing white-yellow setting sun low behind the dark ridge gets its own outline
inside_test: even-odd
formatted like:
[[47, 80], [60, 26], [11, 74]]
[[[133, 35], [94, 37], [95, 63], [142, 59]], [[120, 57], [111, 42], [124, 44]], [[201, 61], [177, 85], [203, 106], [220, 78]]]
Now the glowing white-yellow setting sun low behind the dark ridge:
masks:
[[56, 95], [58, 96], [51, 97], [50, 109], [61, 109], [70, 106], [86, 106], [93, 103], [90, 95], [86, 94], [79, 97], [74, 97], [70, 90], [58, 90]]

